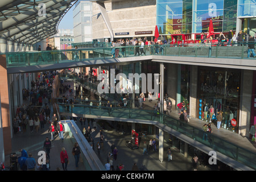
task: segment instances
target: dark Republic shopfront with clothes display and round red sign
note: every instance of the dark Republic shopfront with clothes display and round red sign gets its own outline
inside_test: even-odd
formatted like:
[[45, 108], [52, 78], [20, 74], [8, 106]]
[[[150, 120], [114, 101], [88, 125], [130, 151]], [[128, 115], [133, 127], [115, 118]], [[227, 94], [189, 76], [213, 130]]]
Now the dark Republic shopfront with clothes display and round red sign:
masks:
[[[197, 118], [209, 122], [214, 118], [209, 111], [213, 107], [213, 115], [223, 112], [221, 127], [238, 133], [240, 85], [240, 70], [200, 67]], [[211, 120], [216, 124], [216, 119]]]

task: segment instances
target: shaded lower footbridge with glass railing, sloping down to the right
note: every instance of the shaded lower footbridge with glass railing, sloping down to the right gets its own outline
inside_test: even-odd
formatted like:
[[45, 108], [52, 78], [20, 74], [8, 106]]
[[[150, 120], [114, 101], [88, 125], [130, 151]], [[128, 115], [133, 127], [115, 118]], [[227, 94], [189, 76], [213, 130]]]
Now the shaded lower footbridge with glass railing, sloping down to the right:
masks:
[[[200, 122], [200, 119], [192, 118], [191, 122], [184, 123], [179, 121], [177, 116], [175, 118], [175, 114], [172, 116], [162, 113], [156, 114], [154, 110], [126, 109], [121, 107], [90, 106], [81, 104], [64, 105], [62, 103], [58, 103], [57, 105], [59, 107], [59, 114], [69, 117], [85, 117], [104, 119], [108, 121], [155, 125], [159, 129], [174, 135], [207, 154], [209, 151], [216, 151], [217, 160], [220, 160], [235, 169], [256, 169], [256, 162], [254, 160], [256, 155], [254, 147], [246, 148], [238, 146], [237, 144], [232, 143], [232, 141], [226, 139], [229, 137], [225, 137], [224, 139], [217, 133], [211, 135], [212, 140], [210, 142], [204, 141], [202, 139], [203, 131], [201, 130], [201, 126], [203, 124]], [[193, 123], [193, 125], [190, 123]], [[247, 143], [245, 140], [242, 141], [242, 137], [240, 135], [234, 135], [230, 131], [226, 131], [225, 134], [230, 134], [233, 137], [236, 137], [237, 140]]]

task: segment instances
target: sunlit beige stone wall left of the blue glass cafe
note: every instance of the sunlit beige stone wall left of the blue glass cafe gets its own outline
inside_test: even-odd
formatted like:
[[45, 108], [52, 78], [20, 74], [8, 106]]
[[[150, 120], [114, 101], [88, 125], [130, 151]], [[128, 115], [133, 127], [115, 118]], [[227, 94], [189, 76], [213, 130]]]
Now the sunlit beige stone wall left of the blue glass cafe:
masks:
[[[154, 36], [156, 26], [156, 4], [153, 0], [131, 0], [105, 3], [106, 11], [113, 28], [115, 38], [135, 36], [135, 31], [152, 31], [148, 35], [136, 35], [136, 37]], [[96, 3], [93, 9], [93, 39], [110, 38], [108, 28], [105, 25], [100, 9]], [[129, 35], [115, 36], [117, 32], [129, 32]]]

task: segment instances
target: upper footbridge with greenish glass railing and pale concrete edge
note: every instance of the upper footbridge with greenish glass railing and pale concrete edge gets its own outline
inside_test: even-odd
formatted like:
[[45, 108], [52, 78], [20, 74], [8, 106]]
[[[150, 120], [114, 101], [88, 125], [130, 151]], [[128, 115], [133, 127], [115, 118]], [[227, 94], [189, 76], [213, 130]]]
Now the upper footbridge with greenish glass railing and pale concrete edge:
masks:
[[247, 58], [247, 45], [229, 47], [212, 46], [211, 44], [152, 45], [143, 47], [146, 56], [135, 56], [135, 46], [115, 48], [119, 48], [119, 55], [122, 55], [123, 51], [124, 57], [112, 57], [113, 48], [111, 47], [89, 47], [77, 50], [6, 52], [1, 53], [0, 59], [6, 61], [7, 73], [130, 64], [135, 61], [158, 61], [256, 70], [254, 58]]

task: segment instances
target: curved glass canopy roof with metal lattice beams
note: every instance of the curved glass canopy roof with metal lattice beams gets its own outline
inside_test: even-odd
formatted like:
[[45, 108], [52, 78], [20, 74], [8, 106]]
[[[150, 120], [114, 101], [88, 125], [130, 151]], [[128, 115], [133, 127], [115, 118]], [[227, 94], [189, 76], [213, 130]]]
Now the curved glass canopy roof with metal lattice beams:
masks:
[[57, 33], [60, 20], [76, 1], [0, 1], [0, 37], [31, 45], [40, 42]]

